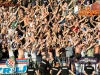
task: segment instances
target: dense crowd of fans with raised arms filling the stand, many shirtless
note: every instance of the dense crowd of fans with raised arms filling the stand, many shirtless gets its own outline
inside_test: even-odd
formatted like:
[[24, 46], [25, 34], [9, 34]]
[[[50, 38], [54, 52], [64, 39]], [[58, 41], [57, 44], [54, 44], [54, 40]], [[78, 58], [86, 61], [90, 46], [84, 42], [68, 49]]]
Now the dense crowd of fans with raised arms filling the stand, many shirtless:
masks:
[[85, 67], [83, 73], [99, 75], [100, 16], [78, 15], [83, 8], [91, 9], [89, 0], [84, 1], [43, 0], [39, 5], [33, 0], [19, 6], [1, 6], [1, 61], [10, 58], [15, 68], [15, 58], [32, 58], [37, 75], [79, 75], [79, 59], [92, 57], [98, 60], [98, 70], [88, 62], [92, 70]]

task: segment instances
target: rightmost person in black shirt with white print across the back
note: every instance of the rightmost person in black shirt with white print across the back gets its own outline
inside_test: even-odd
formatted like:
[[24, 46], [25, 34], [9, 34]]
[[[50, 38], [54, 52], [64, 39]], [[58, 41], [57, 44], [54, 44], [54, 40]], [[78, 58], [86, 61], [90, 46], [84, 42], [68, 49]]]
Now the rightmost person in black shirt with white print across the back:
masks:
[[85, 75], [94, 75], [94, 67], [91, 66], [91, 62], [87, 63], [87, 66], [84, 67], [84, 74]]

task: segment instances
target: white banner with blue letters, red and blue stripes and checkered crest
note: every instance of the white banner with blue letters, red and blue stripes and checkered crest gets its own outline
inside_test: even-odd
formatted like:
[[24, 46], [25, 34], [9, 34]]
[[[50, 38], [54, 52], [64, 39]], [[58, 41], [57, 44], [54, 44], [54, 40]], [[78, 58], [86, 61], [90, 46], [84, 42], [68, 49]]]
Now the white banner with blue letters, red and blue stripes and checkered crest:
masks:
[[[2, 60], [0, 61], [0, 74], [10, 74], [13, 73], [12, 61]], [[25, 73], [27, 70], [27, 59], [16, 59], [15, 73]]]

